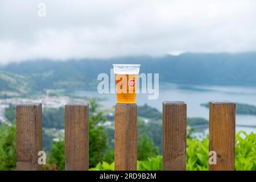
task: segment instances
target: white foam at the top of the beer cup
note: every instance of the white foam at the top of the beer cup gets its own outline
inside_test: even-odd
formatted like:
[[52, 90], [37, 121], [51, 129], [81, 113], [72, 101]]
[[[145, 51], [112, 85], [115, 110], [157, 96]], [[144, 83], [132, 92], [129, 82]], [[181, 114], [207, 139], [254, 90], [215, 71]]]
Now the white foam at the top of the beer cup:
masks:
[[120, 75], [137, 75], [140, 66], [140, 64], [113, 64], [114, 73]]

